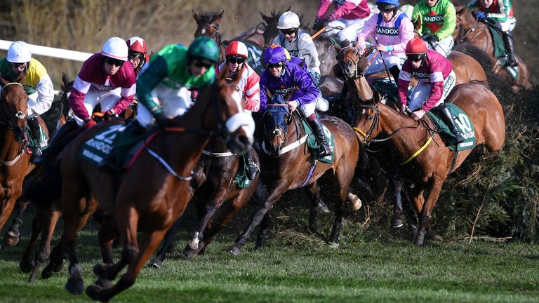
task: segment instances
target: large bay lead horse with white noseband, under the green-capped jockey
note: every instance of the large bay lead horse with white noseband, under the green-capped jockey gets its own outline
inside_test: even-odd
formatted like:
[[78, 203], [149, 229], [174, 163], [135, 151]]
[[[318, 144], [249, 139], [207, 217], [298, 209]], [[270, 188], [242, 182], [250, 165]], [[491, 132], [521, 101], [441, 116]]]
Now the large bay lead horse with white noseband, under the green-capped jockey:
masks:
[[[92, 299], [107, 302], [135, 283], [142, 266], [182, 215], [191, 196], [192, 170], [209, 137], [219, 135], [235, 153], [246, 152], [251, 147], [254, 122], [241, 109], [241, 95], [236, 89], [239, 77], [229, 83], [228, 72], [225, 67], [215, 83], [201, 91], [189, 111], [175, 119], [174, 127], [159, 130], [137, 161], [119, 177], [81, 161], [77, 154], [84, 142], [100, 130], [121, 122], [100, 123], [64, 149], [61, 163], [64, 229], [60, 246], [69, 258], [65, 286], [69, 292], [80, 294], [84, 290], [75, 252], [76, 225], [79, 213], [85, 208], [84, 197], [95, 194], [100, 207], [114, 215], [124, 245], [119, 262], [98, 264], [94, 272], [102, 280], [113, 281], [128, 266], [126, 274], [113, 286], [93, 284], [86, 289]], [[140, 246], [138, 231], [142, 232]]]

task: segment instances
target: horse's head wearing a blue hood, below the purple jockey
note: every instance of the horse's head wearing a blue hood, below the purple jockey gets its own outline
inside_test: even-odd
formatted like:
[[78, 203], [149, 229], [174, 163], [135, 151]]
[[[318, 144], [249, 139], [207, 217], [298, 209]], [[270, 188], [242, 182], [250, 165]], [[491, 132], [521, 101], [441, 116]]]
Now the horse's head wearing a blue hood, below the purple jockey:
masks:
[[264, 114], [265, 144], [267, 151], [272, 156], [278, 157], [281, 155], [281, 149], [286, 140], [288, 125], [292, 122], [292, 115], [287, 104], [292, 92], [283, 96], [272, 95], [270, 91], [266, 91], [266, 95], [270, 101], [267, 102], [267, 110]]

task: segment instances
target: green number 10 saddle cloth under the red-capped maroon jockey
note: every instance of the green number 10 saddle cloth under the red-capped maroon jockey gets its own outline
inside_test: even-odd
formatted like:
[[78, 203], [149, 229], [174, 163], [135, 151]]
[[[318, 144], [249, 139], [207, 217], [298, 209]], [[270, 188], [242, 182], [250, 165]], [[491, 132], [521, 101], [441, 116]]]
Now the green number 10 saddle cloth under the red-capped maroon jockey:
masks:
[[[460, 130], [460, 134], [466, 138], [464, 142], [460, 142], [456, 145], [456, 150], [461, 151], [464, 149], [472, 149], [475, 147], [475, 130], [470, 117], [460, 109], [460, 107], [454, 105], [453, 103], [446, 103], [446, 107], [451, 111], [451, 116], [457, 128]], [[455, 151], [455, 144], [457, 144], [457, 139], [451, 133], [448, 126], [444, 121], [442, 121], [438, 116], [432, 112], [427, 112], [427, 116], [430, 118], [432, 123], [436, 126], [439, 133], [445, 135], [448, 140], [449, 149]]]

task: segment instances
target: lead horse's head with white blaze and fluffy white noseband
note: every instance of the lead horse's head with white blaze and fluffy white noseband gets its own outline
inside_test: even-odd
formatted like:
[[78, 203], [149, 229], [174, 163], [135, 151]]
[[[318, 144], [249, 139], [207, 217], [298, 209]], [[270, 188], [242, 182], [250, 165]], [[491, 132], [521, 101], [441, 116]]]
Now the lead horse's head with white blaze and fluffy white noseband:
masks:
[[[225, 65], [213, 83], [211, 89], [203, 90], [199, 98], [201, 102], [208, 102], [204, 114], [204, 128], [214, 129], [217, 126], [217, 135], [225, 142], [234, 154], [242, 154], [251, 148], [255, 122], [250, 114], [244, 112], [241, 93], [237, 90], [237, 83], [241, 79], [239, 73], [228, 78], [229, 69]], [[197, 102], [199, 102], [197, 100]], [[213, 110], [210, 109], [213, 105]]]

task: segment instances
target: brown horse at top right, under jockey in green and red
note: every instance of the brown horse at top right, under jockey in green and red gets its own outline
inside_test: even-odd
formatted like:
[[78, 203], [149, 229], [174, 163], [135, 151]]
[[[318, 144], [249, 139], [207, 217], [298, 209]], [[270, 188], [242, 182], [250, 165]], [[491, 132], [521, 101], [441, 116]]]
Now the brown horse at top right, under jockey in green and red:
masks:
[[490, 57], [491, 64], [494, 65], [494, 72], [504, 76], [508, 82], [512, 83], [514, 85], [513, 90], [516, 91], [519, 87], [531, 88], [531, 76], [524, 61], [515, 55], [519, 62], [519, 76], [517, 79], [513, 79], [505, 68], [500, 67], [498, 58], [494, 57], [494, 43], [488, 26], [484, 22], [479, 22], [467, 6], [457, 6], [456, 11], [456, 29], [453, 33], [455, 45], [467, 42], [484, 50]]

